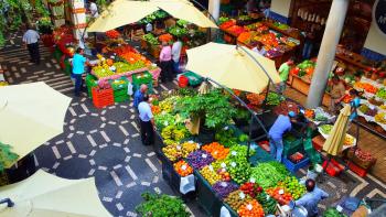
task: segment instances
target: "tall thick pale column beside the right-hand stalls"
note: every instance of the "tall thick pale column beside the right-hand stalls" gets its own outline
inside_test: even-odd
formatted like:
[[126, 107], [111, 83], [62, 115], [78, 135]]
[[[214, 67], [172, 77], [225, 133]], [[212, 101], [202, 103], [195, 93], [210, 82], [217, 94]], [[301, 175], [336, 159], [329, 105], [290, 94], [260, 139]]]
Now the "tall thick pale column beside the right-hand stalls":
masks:
[[312, 77], [307, 107], [315, 108], [323, 100], [329, 74], [335, 58], [336, 45], [341, 39], [350, 0], [333, 0]]

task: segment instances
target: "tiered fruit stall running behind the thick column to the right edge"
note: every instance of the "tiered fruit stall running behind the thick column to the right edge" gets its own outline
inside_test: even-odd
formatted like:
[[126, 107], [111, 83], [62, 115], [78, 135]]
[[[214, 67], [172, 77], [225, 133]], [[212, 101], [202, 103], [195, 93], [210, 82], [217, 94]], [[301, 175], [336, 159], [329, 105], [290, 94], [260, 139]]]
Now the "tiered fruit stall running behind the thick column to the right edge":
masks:
[[[308, 95], [314, 67], [315, 59], [303, 61], [298, 64], [291, 69], [288, 84], [300, 93]], [[375, 63], [339, 47], [330, 77], [333, 75], [340, 77], [347, 90], [354, 88], [361, 93], [360, 118], [355, 121], [373, 133], [386, 138], [385, 119], [383, 118], [386, 107], [386, 97], [384, 96], [386, 74], [382, 62]], [[330, 90], [331, 85], [326, 87], [322, 102], [326, 107], [330, 107]], [[347, 104], [350, 100], [351, 97], [346, 95], [342, 104]]]

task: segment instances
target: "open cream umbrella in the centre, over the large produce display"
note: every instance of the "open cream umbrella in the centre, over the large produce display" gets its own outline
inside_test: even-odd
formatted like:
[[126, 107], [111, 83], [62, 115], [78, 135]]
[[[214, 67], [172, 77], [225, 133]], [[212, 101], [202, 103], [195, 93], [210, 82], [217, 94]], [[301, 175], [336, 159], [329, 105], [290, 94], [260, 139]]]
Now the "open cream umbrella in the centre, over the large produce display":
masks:
[[245, 47], [211, 42], [186, 53], [186, 69], [227, 88], [260, 94], [269, 80], [280, 83], [275, 62]]

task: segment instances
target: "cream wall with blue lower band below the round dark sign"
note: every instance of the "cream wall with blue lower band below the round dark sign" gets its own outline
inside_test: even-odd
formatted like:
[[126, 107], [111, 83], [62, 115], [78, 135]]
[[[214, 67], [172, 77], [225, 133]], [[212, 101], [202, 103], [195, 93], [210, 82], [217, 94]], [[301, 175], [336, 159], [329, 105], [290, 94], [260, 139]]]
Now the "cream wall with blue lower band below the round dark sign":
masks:
[[386, 34], [382, 34], [374, 22], [369, 28], [362, 55], [377, 61], [386, 58]]

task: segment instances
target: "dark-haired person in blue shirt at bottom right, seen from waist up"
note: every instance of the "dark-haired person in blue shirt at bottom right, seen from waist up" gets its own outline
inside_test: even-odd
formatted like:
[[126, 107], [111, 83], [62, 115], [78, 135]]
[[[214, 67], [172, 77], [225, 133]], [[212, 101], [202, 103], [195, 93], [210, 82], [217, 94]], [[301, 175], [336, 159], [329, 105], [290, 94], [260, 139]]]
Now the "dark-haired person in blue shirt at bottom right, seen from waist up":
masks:
[[315, 186], [315, 181], [305, 181], [307, 194], [294, 202], [294, 206], [302, 206], [308, 211], [308, 217], [318, 216], [319, 209], [318, 204], [320, 200], [328, 198], [329, 194]]

